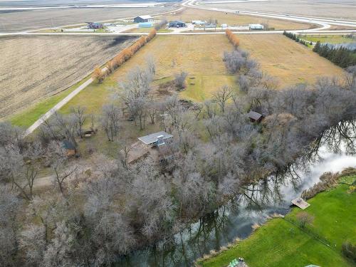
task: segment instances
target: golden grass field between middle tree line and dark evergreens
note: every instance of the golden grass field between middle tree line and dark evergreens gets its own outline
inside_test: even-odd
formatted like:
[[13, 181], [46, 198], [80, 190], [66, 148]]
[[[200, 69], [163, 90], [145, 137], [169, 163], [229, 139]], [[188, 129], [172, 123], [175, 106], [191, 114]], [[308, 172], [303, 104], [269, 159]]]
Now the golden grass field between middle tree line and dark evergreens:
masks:
[[244, 34], [239, 38], [240, 47], [260, 63], [263, 71], [276, 77], [281, 86], [315, 83], [323, 76], [344, 77], [342, 68], [286, 36]]

